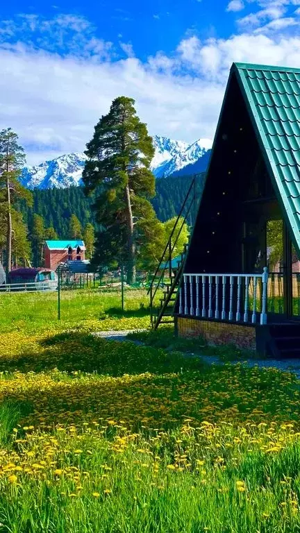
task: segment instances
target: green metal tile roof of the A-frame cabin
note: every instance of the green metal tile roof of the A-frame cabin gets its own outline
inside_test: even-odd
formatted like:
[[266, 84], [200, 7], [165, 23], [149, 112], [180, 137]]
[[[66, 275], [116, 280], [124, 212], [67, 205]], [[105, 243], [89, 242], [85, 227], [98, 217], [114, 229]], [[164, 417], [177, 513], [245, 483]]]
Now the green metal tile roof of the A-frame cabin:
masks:
[[233, 63], [233, 72], [300, 252], [300, 69]]

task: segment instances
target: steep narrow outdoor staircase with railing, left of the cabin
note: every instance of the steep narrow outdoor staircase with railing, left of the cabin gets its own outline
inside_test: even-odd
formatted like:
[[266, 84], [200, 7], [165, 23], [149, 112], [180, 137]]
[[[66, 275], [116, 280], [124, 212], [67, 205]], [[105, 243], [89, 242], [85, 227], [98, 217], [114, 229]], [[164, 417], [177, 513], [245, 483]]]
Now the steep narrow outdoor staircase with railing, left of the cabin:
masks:
[[[176, 244], [179, 235], [187, 220], [190, 212], [194, 212], [194, 221], [196, 218], [197, 201], [196, 201], [196, 176], [192, 179], [190, 187], [181, 206], [181, 210], [178, 214], [171, 235], [165, 246], [162, 257], [156, 272], [151, 280], [151, 284], [148, 290], [150, 296], [150, 314], [151, 325], [153, 329], [157, 329], [160, 324], [174, 323], [174, 309], [176, 306], [178, 285], [181, 281], [183, 274], [183, 266], [185, 263], [186, 253], [188, 251], [188, 243], [185, 244], [183, 252], [174, 265], [174, 250], [176, 250]], [[194, 223], [193, 221], [193, 223]], [[168, 280], [165, 282], [165, 275], [168, 274]], [[160, 296], [160, 290], [163, 289], [163, 298]], [[158, 303], [158, 301], [160, 303]]]

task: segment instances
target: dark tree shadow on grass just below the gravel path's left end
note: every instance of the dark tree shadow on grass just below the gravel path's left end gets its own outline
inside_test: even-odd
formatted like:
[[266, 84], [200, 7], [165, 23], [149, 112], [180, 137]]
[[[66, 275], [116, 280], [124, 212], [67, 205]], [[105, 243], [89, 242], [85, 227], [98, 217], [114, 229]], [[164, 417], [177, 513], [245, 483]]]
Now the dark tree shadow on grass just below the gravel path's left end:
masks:
[[2, 357], [0, 371], [42, 372], [58, 369], [74, 375], [87, 372], [119, 377], [124, 374], [173, 373], [181, 369], [203, 370], [201, 359], [189, 359], [178, 352], [151, 346], [136, 346], [132, 341], [108, 341], [83, 332], [62, 332], [37, 341], [31, 351], [17, 357]]

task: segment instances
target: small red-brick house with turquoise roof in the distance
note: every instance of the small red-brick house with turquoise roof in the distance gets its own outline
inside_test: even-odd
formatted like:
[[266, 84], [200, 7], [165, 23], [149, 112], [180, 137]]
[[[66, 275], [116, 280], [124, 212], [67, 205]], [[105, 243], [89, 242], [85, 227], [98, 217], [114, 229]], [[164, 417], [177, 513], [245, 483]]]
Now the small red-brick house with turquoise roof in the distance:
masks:
[[85, 260], [85, 244], [81, 239], [69, 241], [46, 241], [44, 244], [44, 266], [56, 270], [66, 261]]

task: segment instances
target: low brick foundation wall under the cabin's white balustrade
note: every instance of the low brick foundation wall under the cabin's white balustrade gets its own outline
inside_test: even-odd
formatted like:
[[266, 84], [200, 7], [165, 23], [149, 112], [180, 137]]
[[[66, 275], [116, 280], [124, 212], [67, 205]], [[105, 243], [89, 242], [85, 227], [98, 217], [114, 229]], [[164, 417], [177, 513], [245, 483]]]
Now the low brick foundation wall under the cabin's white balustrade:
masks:
[[244, 350], [256, 350], [256, 328], [252, 326], [178, 317], [177, 330], [178, 337], [202, 337], [212, 346], [234, 344]]

